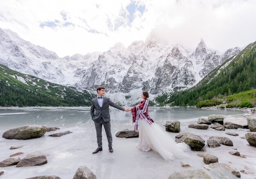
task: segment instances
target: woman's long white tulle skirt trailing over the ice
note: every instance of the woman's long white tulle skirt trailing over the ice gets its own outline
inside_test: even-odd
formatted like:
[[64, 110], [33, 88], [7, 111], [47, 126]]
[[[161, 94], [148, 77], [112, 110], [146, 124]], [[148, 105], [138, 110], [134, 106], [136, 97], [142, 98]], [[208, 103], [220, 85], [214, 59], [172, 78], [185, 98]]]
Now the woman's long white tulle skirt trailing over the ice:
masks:
[[146, 119], [140, 119], [138, 148], [142, 151], [153, 149], [167, 161], [186, 156], [184, 151], [188, 150], [189, 146], [176, 143], [158, 124], [150, 125]]

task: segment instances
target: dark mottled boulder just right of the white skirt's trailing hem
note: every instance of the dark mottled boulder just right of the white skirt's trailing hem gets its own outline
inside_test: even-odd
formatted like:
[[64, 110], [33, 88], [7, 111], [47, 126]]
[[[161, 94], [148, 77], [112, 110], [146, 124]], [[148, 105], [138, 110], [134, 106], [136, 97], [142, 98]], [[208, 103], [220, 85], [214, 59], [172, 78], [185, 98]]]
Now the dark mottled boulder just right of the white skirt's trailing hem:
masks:
[[191, 150], [199, 151], [204, 147], [204, 139], [191, 133], [182, 133], [175, 136], [177, 143], [184, 142], [191, 147]]

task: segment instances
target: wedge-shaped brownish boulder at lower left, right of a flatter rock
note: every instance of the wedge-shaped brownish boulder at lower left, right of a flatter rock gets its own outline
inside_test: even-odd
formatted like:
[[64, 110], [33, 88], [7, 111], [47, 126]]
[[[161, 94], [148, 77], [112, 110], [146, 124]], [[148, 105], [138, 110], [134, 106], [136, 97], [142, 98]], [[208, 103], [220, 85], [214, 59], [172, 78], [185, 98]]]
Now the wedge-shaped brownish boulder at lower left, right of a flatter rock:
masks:
[[27, 157], [20, 160], [17, 167], [30, 167], [30, 166], [41, 166], [46, 164], [48, 161], [46, 155], [42, 152], [32, 152]]

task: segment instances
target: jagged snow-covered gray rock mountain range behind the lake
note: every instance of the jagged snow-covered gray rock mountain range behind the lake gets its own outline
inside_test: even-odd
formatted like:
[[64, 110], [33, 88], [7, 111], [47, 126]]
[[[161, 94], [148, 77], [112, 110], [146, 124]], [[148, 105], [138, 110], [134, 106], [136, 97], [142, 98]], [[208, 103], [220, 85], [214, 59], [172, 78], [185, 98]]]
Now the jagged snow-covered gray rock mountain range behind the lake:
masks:
[[151, 32], [145, 42], [135, 41], [127, 48], [117, 43], [103, 53], [59, 58], [9, 29], [0, 29], [1, 64], [77, 89], [104, 85], [113, 101], [126, 105], [139, 101], [141, 89], [156, 97], [163, 91], [192, 87], [241, 50], [235, 47], [220, 53], [201, 39], [195, 51], [189, 51], [179, 44], [170, 45]]

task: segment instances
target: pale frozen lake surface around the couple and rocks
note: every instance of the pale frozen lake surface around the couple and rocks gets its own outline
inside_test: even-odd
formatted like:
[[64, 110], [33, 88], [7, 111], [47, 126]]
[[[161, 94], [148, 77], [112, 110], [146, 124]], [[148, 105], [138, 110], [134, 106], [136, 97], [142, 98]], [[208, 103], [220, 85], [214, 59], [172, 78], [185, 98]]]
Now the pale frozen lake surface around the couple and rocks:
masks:
[[[194, 107], [150, 107], [150, 116], [155, 123], [164, 125], [166, 121], [180, 121], [181, 131], [200, 135], [205, 141], [210, 136], [226, 136], [234, 143], [243, 159], [229, 154], [234, 147], [221, 145], [218, 148], [205, 146], [205, 152], [186, 151], [184, 158], [174, 161], [164, 161], [159, 154], [150, 150], [142, 152], [137, 149], [138, 138], [117, 138], [115, 134], [124, 129], [133, 130], [131, 114], [116, 109], [110, 109], [111, 129], [114, 152], [108, 152], [108, 142], [103, 129], [103, 151], [92, 152], [97, 148], [94, 123], [90, 116], [90, 107], [22, 107], [0, 108], [0, 161], [11, 154], [24, 152], [24, 158], [30, 152], [40, 151], [49, 154], [48, 163], [43, 166], [16, 168], [10, 166], [0, 168], [4, 171], [3, 178], [25, 179], [39, 175], [56, 175], [61, 179], [72, 179], [79, 166], [87, 166], [94, 172], [97, 179], [155, 179], [168, 178], [178, 170], [195, 170], [205, 165], [199, 153], [210, 153], [219, 158], [219, 162], [234, 166], [237, 170], [256, 173], [256, 148], [249, 146], [245, 139], [248, 129], [216, 131], [213, 129], [196, 130], [188, 128], [190, 123], [196, 123], [199, 117], [210, 114], [240, 115], [244, 112], [234, 110], [201, 110]], [[49, 125], [61, 128], [53, 132], [46, 132], [43, 137], [30, 140], [8, 140], [2, 134], [11, 128], [22, 125]], [[164, 126], [162, 126], [164, 128]], [[61, 137], [50, 137], [49, 134], [70, 130], [72, 134]], [[237, 132], [239, 136], [229, 136], [225, 132]], [[169, 133], [173, 139], [178, 133]], [[206, 142], [205, 142], [206, 143]], [[20, 149], [9, 150], [12, 145], [23, 145]], [[206, 143], [207, 145], [207, 143]], [[234, 151], [234, 150], [233, 150]], [[180, 162], [188, 163], [190, 168], [182, 168]], [[254, 178], [242, 172], [241, 178]]]

